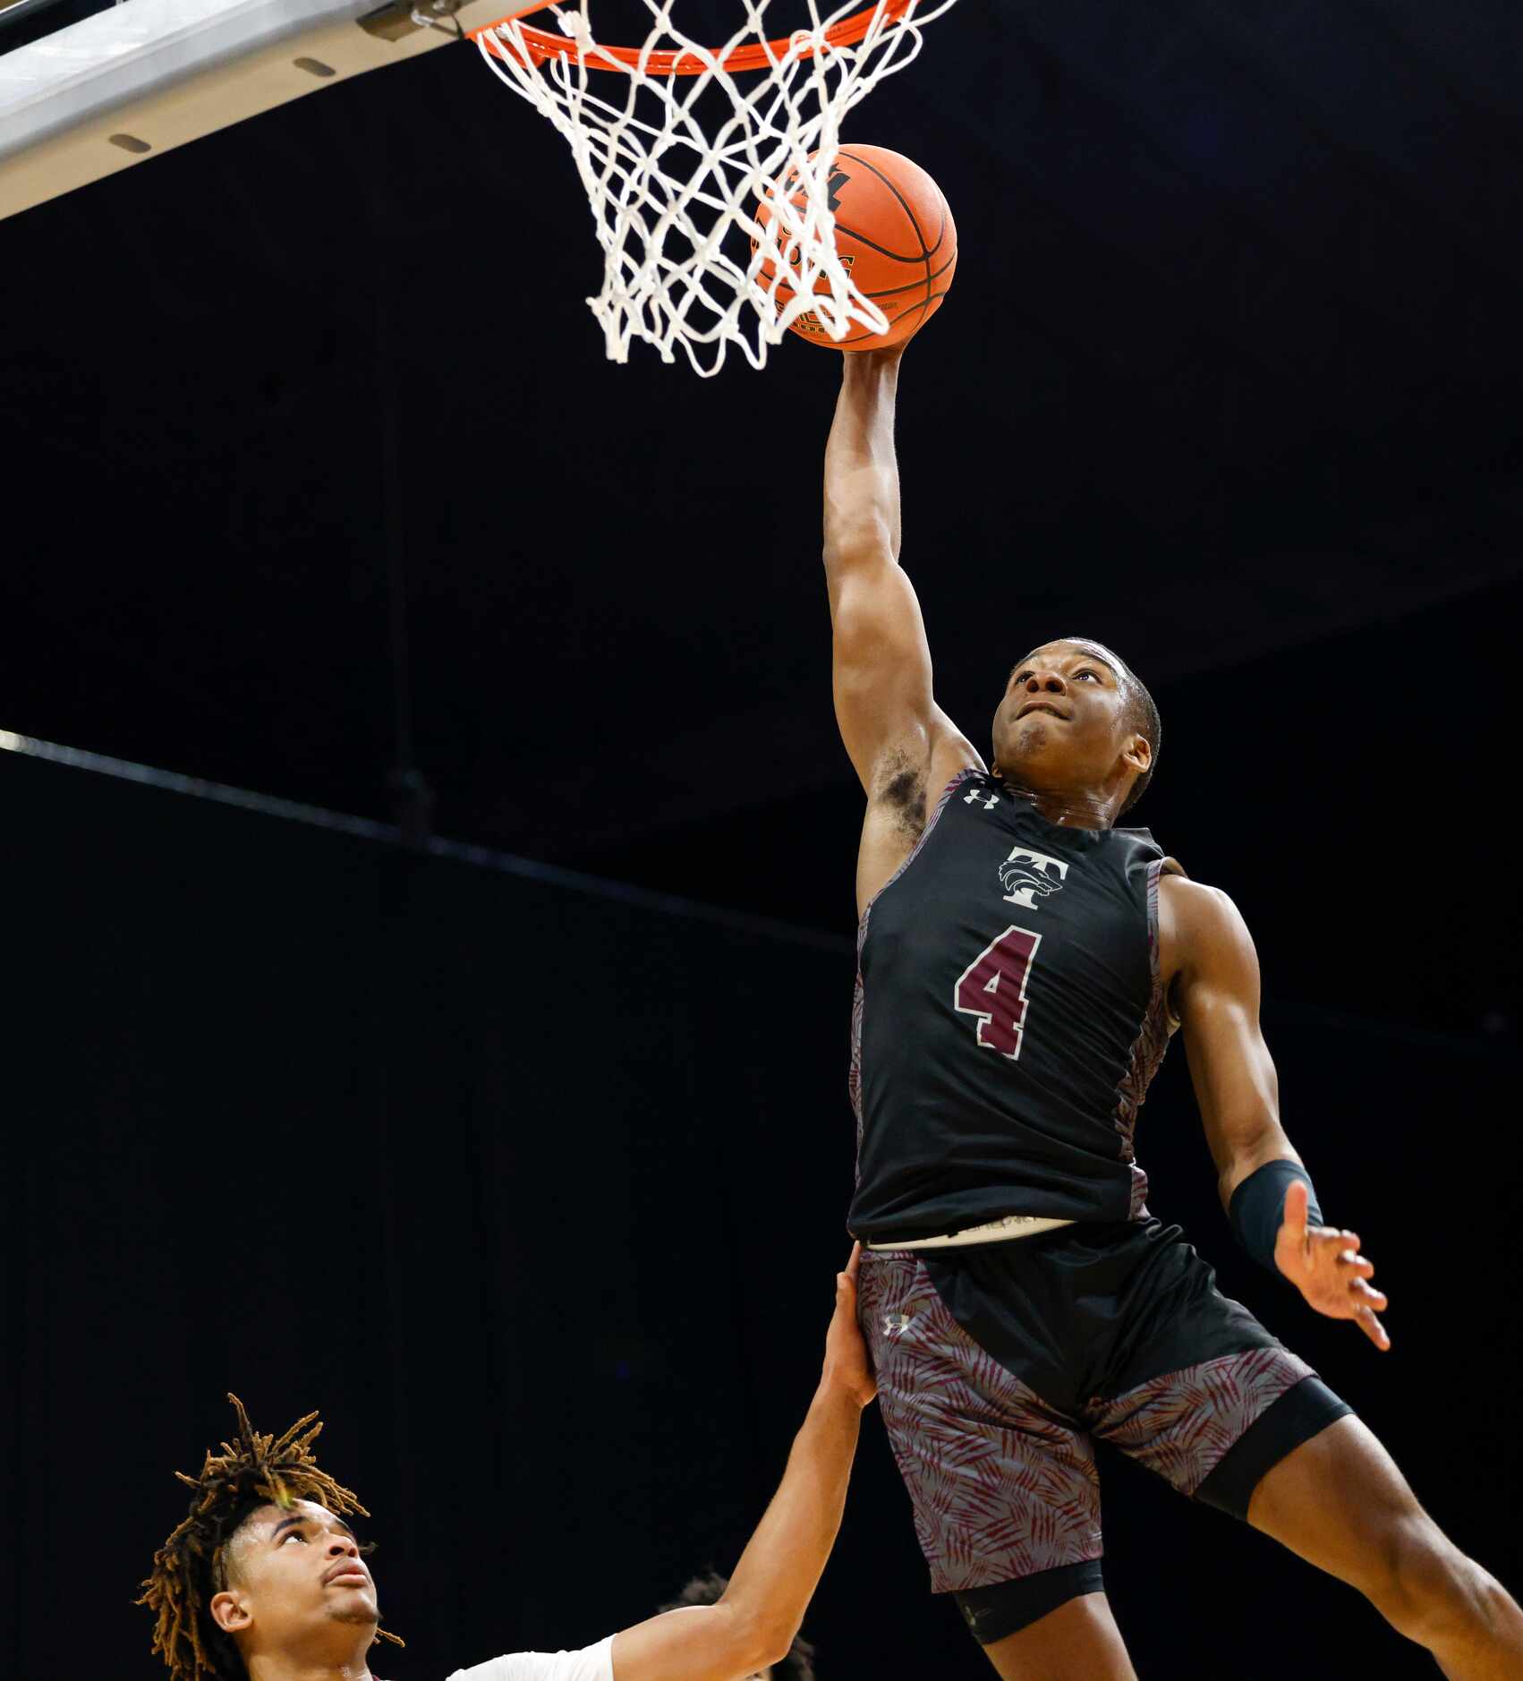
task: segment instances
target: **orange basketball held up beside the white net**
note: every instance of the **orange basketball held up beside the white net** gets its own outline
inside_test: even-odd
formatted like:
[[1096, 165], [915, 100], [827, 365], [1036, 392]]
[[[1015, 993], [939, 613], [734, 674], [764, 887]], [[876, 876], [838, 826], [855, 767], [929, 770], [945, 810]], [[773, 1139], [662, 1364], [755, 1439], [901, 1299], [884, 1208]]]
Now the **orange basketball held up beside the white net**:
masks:
[[[835, 250], [852, 282], [888, 316], [889, 329], [854, 326], [837, 343], [810, 309], [790, 331], [827, 350], [881, 350], [918, 333], [941, 308], [956, 272], [956, 224], [941, 188], [918, 163], [886, 146], [842, 146], [830, 171], [830, 210]], [[756, 220], [768, 217], [763, 200]], [[758, 281], [772, 286], [772, 276], [773, 266], [765, 262]], [[827, 282], [815, 289], [827, 291]], [[787, 281], [777, 298], [793, 298]]]

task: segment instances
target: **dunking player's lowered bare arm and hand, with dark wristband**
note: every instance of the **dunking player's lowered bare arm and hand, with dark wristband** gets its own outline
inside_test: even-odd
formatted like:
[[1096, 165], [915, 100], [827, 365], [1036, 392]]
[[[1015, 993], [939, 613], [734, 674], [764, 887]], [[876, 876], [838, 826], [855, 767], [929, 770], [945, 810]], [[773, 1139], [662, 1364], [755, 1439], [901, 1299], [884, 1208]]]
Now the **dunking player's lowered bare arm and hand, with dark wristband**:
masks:
[[[1160, 898], [1167, 906], [1173, 1005], [1217, 1190], [1231, 1210], [1234, 1192], [1259, 1168], [1274, 1162], [1301, 1167], [1279, 1121], [1279, 1079], [1259, 1025], [1259, 955], [1225, 893], [1167, 876]], [[1293, 1178], [1284, 1190], [1274, 1266], [1318, 1313], [1353, 1320], [1377, 1348], [1389, 1348], [1377, 1318], [1385, 1296], [1370, 1284], [1375, 1267], [1358, 1252], [1358, 1236], [1308, 1220], [1308, 1183]]]

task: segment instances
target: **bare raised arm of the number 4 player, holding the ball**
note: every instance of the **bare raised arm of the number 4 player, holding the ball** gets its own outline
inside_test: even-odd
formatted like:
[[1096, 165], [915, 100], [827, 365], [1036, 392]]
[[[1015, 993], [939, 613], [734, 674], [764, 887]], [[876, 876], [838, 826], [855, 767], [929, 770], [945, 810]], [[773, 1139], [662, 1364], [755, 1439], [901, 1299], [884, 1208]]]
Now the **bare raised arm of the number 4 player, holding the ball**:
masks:
[[[921, 807], [958, 770], [977, 765], [973, 746], [931, 694], [931, 652], [920, 602], [899, 565], [899, 467], [894, 398], [903, 345], [842, 355], [841, 395], [825, 445], [825, 585], [830, 595], [835, 721], [867, 793], [869, 876], [889, 874], [913, 844], [903, 810]], [[874, 846], [872, 812], [889, 819]], [[898, 840], [908, 844], [898, 846]], [[881, 861], [876, 852], [884, 852]], [[886, 869], [872, 867], [883, 862]], [[861, 883], [871, 898], [881, 886]]]

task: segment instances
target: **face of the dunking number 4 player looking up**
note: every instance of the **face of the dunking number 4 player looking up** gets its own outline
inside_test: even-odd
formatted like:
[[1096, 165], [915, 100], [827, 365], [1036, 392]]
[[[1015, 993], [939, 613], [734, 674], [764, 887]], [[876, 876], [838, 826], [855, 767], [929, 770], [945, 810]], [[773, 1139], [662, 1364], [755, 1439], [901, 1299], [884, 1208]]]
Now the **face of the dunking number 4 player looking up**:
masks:
[[1130, 741], [1121, 674], [1093, 642], [1049, 642], [1012, 667], [993, 714], [993, 756], [1007, 777], [1099, 790]]

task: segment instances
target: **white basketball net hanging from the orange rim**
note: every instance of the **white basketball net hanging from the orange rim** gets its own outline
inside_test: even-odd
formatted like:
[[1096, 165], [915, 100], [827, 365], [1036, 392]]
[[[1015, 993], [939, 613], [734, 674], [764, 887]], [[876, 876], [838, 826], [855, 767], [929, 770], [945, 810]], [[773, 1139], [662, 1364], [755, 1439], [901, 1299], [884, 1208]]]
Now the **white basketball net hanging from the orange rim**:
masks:
[[[886, 331], [835, 254], [829, 183], [841, 119], [918, 57], [923, 27], [955, 0], [908, 0], [898, 17], [879, 0], [856, 45], [829, 32], [872, 0], [834, 10], [809, 0], [809, 27], [780, 50], [767, 47], [773, 0], [735, 0], [743, 22], [721, 47], [681, 32], [681, 0], [642, 3], [651, 32], [629, 59], [593, 39], [587, 0], [548, 8], [573, 44], [568, 55], [535, 45], [521, 18], [477, 37], [493, 72], [570, 141], [603, 247], [603, 289], [587, 303], [609, 358], [625, 361], [642, 338], [664, 361], [681, 346], [701, 375], [718, 373], [730, 345], [760, 368], [809, 309], [835, 341], [854, 328]], [[758, 47], [758, 69], [731, 67], [738, 50]], [[662, 52], [699, 74], [654, 74]], [[767, 222], [756, 217], [763, 198]]]

